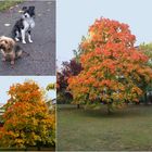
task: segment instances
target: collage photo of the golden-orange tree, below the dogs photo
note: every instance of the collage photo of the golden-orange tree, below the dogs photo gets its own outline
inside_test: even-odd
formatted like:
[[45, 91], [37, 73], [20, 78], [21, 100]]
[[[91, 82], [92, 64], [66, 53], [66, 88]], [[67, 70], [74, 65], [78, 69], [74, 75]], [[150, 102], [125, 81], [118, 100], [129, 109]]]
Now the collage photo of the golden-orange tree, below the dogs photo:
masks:
[[0, 80], [0, 151], [55, 151], [55, 76]]

